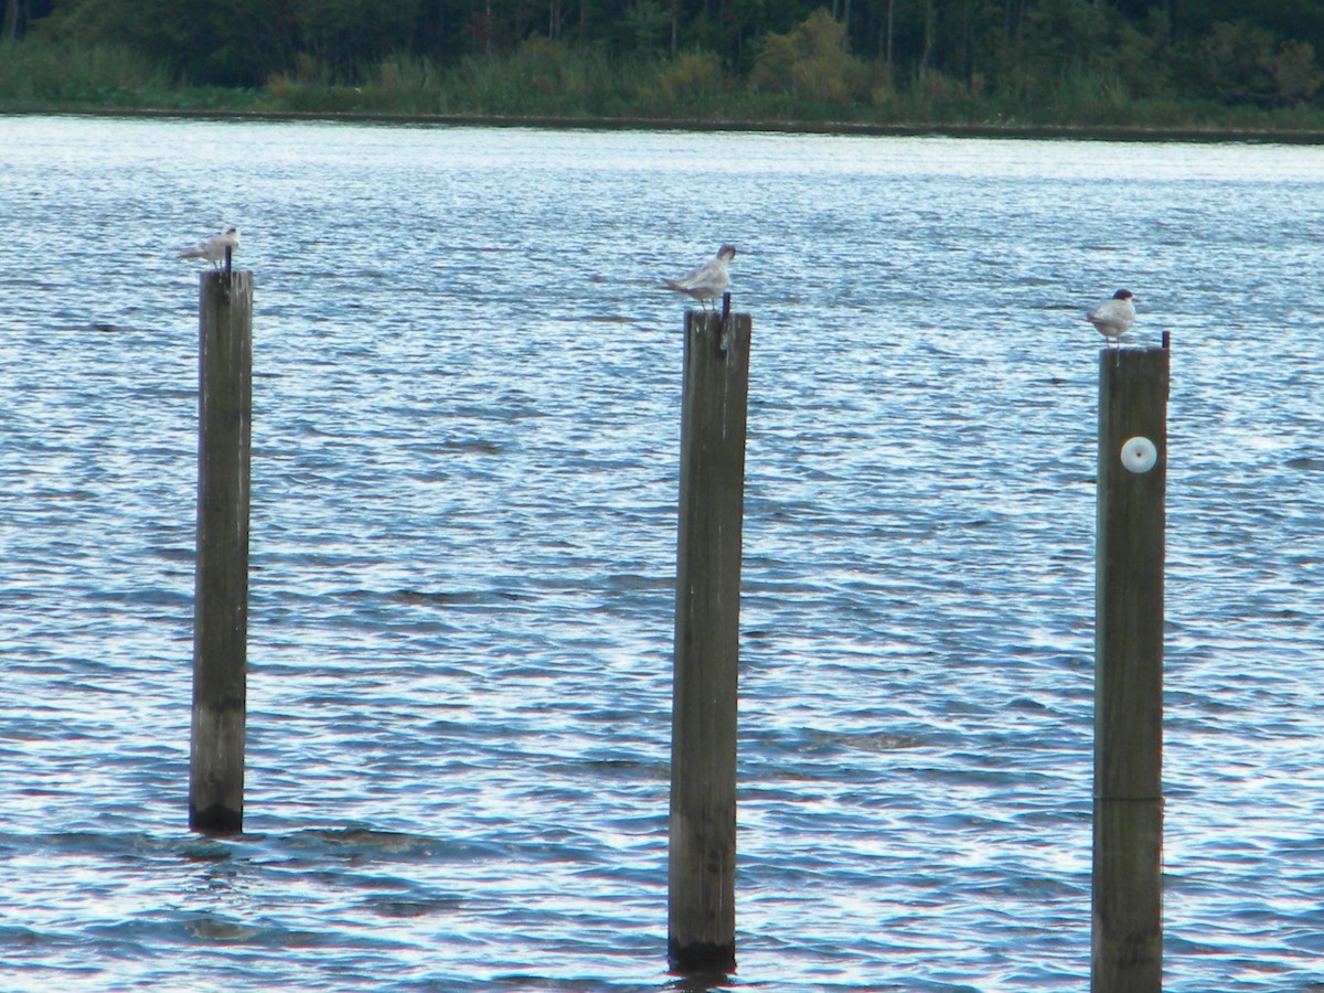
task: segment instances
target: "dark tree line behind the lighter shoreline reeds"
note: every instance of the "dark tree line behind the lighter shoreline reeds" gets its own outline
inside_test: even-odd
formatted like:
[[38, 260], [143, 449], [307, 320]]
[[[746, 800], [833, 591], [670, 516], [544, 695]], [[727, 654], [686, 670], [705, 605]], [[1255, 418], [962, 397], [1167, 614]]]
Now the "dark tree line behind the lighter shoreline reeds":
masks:
[[1087, 77], [1131, 99], [1294, 107], [1324, 83], [1324, 0], [5, 0], [3, 30], [117, 44], [183, 83], [242, 87], [355, 85], [389, 58], [445, 68], [530, 44], [702, 56], [724, 78], [828, 102], [902, 86], [1029, 98]]

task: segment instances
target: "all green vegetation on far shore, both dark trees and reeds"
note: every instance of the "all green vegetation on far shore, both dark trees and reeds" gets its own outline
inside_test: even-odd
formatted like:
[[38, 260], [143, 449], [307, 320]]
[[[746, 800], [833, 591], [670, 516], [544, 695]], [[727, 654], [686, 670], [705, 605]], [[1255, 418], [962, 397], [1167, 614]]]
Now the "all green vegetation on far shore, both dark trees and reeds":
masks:
[[[1254, 9], [1249, 9], [1254, 8]], [[5, 0], [0, 109], [1324, 131], [1324, 1]]]

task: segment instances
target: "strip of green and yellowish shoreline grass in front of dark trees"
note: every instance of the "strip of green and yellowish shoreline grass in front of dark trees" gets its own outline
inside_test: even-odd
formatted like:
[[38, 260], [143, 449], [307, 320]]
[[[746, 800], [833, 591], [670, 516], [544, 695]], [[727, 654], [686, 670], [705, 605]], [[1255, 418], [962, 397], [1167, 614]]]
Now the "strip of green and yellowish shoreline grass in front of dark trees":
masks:
[[359, 85], [315, 77], [200, 87], [114, 46], [25, 38], [0, 42], [0, 114], [1324, 144], [1321, 110], [1135, 99], [1107, 79], [1063, 79], [1039, 99], [1013, 99], [941, 78], [894, 86], [875, 77], [828, 101], [757, 91], [702, 53], [613, 61], [542, 38], [446, 68], [393, 56]]

